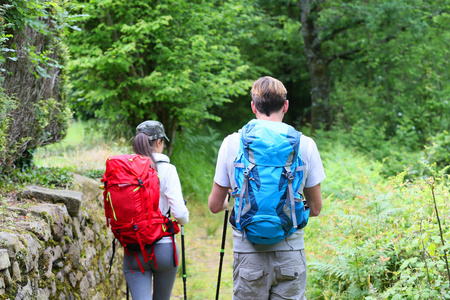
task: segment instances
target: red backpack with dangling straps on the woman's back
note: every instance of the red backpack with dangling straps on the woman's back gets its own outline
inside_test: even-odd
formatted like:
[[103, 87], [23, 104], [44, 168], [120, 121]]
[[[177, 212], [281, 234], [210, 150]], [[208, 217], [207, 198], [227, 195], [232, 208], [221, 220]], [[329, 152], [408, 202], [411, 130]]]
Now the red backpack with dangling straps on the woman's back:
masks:
[[[111, 227], [114, 237], [123, 245], [125, 252], [130, 255], [128, 246], [138, 244], [145, 262], [154, 259], [157, 267], [154, 243], [164, 236], [171, 236], [174, 263], [178, 265], [174, 235], [180, 229], [175, 221], [161, 214], [159, 178], [152, 168], [150, 158], [138, 154], [111, 156], [106, 160], [102, 182], [106, 225]], [[151, 255], [145, 245], [152, 245]], [[134, 254], [144, 272], [136, 251]]]

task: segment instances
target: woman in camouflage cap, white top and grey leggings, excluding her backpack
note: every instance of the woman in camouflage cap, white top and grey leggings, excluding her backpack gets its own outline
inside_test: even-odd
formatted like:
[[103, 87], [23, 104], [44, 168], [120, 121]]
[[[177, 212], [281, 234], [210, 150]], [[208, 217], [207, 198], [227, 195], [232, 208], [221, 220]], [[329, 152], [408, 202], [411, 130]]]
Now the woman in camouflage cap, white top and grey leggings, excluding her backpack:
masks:
[[[136, 127], [133, 150], [136, 154], [149, 157], [152, 166], [156, 166], [160, 184], [159, 209], [161, 213], [166, 216], [171, 213], [178, 224], [184, 225], [189, 221], [189, 211], [184, 204], [177, 170], [174, 165], [170, 164], [169, 157], [162, 153], [164, 139], [169, 141], [163, 124], [158, 121], [145, 121]], [[174, 265], [175, 253], [172, 238], [165, 236], [156, 242], [154, 247], [146, 247], [150, 254], [152, 249], [157, 267], [154, 259], [144, 263], [139, 245], [133, 249], [142, 263], [143, 273], [133, 271], [140, 269], [134, 252], [129, 252], [131, 255], [124, 254], [123, 272], [134, 300], [170, 299], [178, 270], [178, 266]], [[178, 257], [178, 247], [176, 247], [176, 252]]]

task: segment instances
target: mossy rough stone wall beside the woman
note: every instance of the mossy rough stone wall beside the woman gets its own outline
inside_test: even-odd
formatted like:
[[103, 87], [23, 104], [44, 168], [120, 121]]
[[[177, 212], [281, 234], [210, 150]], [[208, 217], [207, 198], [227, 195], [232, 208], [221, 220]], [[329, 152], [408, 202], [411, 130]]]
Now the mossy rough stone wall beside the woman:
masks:
[[0, 299], [125, 299], [100, 182], [75, 179], [75, 191], [27, 187], [1, 203]]

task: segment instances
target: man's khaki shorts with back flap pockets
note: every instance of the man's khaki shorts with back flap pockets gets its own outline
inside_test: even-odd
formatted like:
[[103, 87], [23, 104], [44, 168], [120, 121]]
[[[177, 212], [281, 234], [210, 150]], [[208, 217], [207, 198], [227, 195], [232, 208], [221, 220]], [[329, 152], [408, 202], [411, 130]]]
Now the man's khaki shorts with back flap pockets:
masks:
[[234, 253], [233, 300], [306, 300], [304, 250]]

